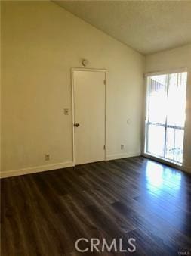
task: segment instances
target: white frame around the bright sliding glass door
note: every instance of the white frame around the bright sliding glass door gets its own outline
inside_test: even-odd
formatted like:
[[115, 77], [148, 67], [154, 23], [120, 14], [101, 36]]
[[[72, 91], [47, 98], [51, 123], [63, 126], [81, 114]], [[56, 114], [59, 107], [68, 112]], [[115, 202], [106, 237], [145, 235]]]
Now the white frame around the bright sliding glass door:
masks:
[[[156, 75], [165, 75], [168, 74], [168, 79], [169, 79], [169, 74], [171, 73], [181, 73], [181, 72], [188, 72], [188, 68], [187, 67], [182, 67], [180, 69], [174, 69], [174, 70], [161, 70], [161, 71], [153, 71], [153, 72], [149, 72], [149, 73], [145, 73], [144, 74], [144, 100], [143, 100], [143, 120], [142, 120], [142, 141], [141, 141], [141, 155], [143, 155], [146, 158], [149, 158], [151, 160], [154, 161], [158, 161], [162, 164], [166, 164], [168, 166], [174, 167], [176, 169], [179, 170], [184, 170], [184, 162], [180, 165], [180, 164], [175, 164], [171, 161], [166, 161], [163, 158], [160, 157], [156, 157], [154, 155], [151, 155], [149, 153], [145, 152], [145, 148], [146, 148], [146, 133], [147, 133], [147, 129], [146, 129], [146, 118], [148, 116], [148, 105], [149, 105], [149, 83], [148, 83], [148, 77], [149, 76], [156, 76]], [[168, 81], [169, 83], [169, 81]], [[186, 84], [186, 90], [188, 87], [188, 79], [187, 79], [187, 84]], [[167, 88], [168, 89], [168, 88]], [[168, 93], [168, 92], [167, 92]], [[167, 121], [167, 120], [166, 120]], [[185, 123], [184, 123], [184, 127], [185, 127]], [[166, 133], [165, 133], [166, 134]], [[165, 135], [166, 136], [166, 135]], [[185, 140], [185, 136], [183, 138], [183, 141]], [[166, 144], [166, 143], [165, 143]], [[184, 144], [183, 143], [183, 152], [184, 152]], [[166, 145], [165, 145], [166, 146]]]

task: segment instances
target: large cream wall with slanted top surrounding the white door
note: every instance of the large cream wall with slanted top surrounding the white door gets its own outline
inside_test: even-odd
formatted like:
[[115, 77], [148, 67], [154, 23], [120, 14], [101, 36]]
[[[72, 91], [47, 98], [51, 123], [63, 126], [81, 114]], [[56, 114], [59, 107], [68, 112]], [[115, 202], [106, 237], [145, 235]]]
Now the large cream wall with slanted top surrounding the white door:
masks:
[[108, 70], [108, 158], [140, 153], [143, 56], [53, 2], [2, 2], [4, 176], [72, 165], [70, 68], [82, 58]]

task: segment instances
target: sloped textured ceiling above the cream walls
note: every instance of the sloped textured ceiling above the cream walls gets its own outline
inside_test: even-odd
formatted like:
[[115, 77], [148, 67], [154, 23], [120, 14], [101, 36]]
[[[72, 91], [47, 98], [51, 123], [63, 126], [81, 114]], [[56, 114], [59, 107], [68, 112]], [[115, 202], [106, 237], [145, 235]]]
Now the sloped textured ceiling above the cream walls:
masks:
[[54, 1], [142, 54], [191, 42], [191, 1]]

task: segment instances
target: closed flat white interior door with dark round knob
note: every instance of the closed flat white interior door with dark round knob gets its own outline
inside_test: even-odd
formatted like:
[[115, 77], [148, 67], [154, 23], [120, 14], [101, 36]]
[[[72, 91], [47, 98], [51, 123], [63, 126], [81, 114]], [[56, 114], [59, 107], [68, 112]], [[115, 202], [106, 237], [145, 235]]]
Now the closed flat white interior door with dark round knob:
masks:
[[73, 70], [75, 164], [105, 159], [105, 72]]

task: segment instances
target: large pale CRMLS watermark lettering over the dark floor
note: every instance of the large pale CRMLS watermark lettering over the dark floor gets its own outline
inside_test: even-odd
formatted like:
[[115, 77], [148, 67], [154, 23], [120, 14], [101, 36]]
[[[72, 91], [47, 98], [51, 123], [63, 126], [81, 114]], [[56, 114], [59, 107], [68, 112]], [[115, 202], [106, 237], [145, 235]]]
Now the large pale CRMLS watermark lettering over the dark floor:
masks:
[[[115, 251], [115, 252], [134, 252], [136, 251], [136, 246], [134, 243], [136, 242], [135, 239], [129, 238], [128, 239], [128, 248], [122, 248], [122, 238], [119, 239], [112, 239], [111, 242], [107, 242], [106, 239], [97, 239], [91, 238], [90, 240], [85, 238], [80, 238], [75, 242], [75, 249], [79, 252], [86, 252], [86, 251]], [[86, 244], [87, 246], [82, 246]], [[83, 248], [82, 248], [83, 247]], [[85, 247], [85, 248], [84, 248]]]

